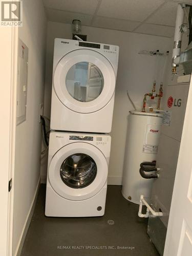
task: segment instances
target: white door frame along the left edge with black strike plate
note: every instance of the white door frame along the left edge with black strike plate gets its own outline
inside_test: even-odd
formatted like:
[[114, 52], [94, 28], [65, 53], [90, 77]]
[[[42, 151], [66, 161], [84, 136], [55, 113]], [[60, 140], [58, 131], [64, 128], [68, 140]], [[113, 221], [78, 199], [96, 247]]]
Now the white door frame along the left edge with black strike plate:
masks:
[[[0, 63], [1, 101], [0, 113], [2, 125], [0, 126], [1, 167], [2, 172], [0, 197], [4, 205], [1, 209], [1, 242], [0, 254], [12, 255], [13, 238], [13, 195], [14, 195], [14, 158], [15, 158], [15, 130], [16, 130], [16, 88], [17, 88], [17, 51], [18, 27], [0, 27], [0, 51], [3, 56]], [[12, 179], [12, 188], [8, 191], [9, 180]]]

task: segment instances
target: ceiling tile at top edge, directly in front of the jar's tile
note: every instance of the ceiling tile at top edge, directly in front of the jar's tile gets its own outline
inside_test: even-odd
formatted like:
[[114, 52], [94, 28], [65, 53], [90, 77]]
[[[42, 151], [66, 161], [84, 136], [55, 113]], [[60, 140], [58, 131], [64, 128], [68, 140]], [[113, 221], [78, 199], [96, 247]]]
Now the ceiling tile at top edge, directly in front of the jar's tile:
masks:
[[98, 0], [43, 0], [45, 7], [93, 15]]

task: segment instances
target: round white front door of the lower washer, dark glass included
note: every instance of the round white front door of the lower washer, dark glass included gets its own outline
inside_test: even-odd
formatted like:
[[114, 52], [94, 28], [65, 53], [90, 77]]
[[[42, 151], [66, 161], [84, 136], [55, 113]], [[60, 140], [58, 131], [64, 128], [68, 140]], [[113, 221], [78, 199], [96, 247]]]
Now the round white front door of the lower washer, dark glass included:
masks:
[[57, 194], [69, 200], [96, 195], [108, 176], [108, 164], [101, 151], [87, 142], [63, 146], [52, 158], [49, 180]]

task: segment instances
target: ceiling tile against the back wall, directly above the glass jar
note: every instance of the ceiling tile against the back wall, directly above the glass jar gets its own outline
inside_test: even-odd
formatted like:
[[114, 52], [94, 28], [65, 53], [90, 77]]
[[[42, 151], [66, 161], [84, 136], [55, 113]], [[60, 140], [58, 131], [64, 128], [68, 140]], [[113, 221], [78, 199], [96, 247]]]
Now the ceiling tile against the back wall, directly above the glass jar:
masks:
[[82, 25], [91, 25], [91, 21], [93, 16], [77, 13], [77, 12], [65, 12], [60, 10], [55, 10], [51, 8], [46, 8], [46, 13], [48, 16], [48, 20], [51, 22], [61, 22], [72, 24], [73, 19], [80, 19]]

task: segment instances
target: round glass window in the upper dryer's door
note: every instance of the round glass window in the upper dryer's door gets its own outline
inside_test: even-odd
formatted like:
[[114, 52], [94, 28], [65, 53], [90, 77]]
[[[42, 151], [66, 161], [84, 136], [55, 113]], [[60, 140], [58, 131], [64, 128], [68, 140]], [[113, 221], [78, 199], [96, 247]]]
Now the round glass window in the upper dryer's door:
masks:
[[73, 65], [66, 75], [68, 93], [76, 100], [89, 102], [102, 92], [104, 78], [93, 63], [82, 61]]

